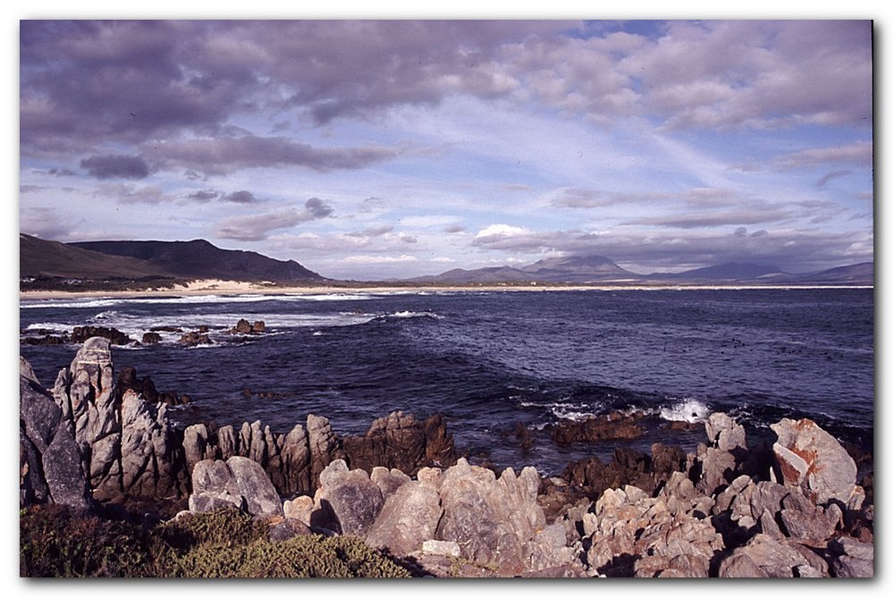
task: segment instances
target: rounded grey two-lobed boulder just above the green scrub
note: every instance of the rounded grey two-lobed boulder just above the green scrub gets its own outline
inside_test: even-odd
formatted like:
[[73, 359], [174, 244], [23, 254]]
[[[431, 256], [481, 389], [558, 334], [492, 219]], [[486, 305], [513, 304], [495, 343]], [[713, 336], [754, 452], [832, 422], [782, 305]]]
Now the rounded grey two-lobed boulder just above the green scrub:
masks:
[[190, 510], [231, 503], [252, 515], [283, 515], [283, 504], [264, 469], [246, 457], [199, 461], [192, 471]]

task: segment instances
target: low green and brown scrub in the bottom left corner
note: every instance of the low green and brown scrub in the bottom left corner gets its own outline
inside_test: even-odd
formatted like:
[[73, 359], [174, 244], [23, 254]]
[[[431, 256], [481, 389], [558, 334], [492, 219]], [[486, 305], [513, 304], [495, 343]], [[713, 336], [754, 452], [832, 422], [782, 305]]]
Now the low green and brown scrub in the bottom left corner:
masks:
[[22, 577], [410, 577], [354, 536], [267, 540], [238, 510], [192, 514], [145, 531], [62, 507], [21, 510]]

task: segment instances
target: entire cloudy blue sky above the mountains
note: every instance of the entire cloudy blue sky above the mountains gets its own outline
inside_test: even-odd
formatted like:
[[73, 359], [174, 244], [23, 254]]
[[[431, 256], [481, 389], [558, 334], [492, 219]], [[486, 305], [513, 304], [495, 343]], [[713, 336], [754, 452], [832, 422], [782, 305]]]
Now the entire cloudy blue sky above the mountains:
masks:
[[333, 278], [873, 260], [873, 23], [20, 21], [19, 228]]

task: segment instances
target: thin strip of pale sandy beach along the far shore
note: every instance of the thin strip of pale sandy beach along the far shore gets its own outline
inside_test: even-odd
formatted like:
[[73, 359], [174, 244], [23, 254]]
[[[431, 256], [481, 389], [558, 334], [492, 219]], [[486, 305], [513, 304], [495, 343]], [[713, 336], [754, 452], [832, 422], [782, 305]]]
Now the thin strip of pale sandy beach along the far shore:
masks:
[[19, 300], [40, 299], [138, 299], [141, 297], [196, 297], [204, 295], [328, 295], [332, 293], [416, 293], [416, 292], [521, 292], [521, 291], [795, 291], [866, 289], [874, 285], [770, 285], [770, 284], [711, 284], [711, 285], [642, 285], [642, 284], [346, 284], [329, 286], [270, 286], [257, 282], [199, 280], [177, 284], [173, 289], [141, 289], [135, 291], [19, 291]]

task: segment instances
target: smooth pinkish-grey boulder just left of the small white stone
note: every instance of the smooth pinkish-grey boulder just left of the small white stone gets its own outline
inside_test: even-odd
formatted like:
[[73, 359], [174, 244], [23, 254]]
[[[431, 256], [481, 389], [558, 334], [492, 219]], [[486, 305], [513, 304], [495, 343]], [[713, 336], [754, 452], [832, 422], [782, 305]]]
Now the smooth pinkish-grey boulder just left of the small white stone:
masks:
[[[401, 556], [420, 549], [432, 552], [431, 544], [428, 549], [424, 544], [434, 538], [441, 514], [441, 501], [434, 488], [415, 480], [406, 482], [384, 501], [366, 542]], [[456, 546], [453, 556], [460, 556], [459, 545], [451, 544]]]

